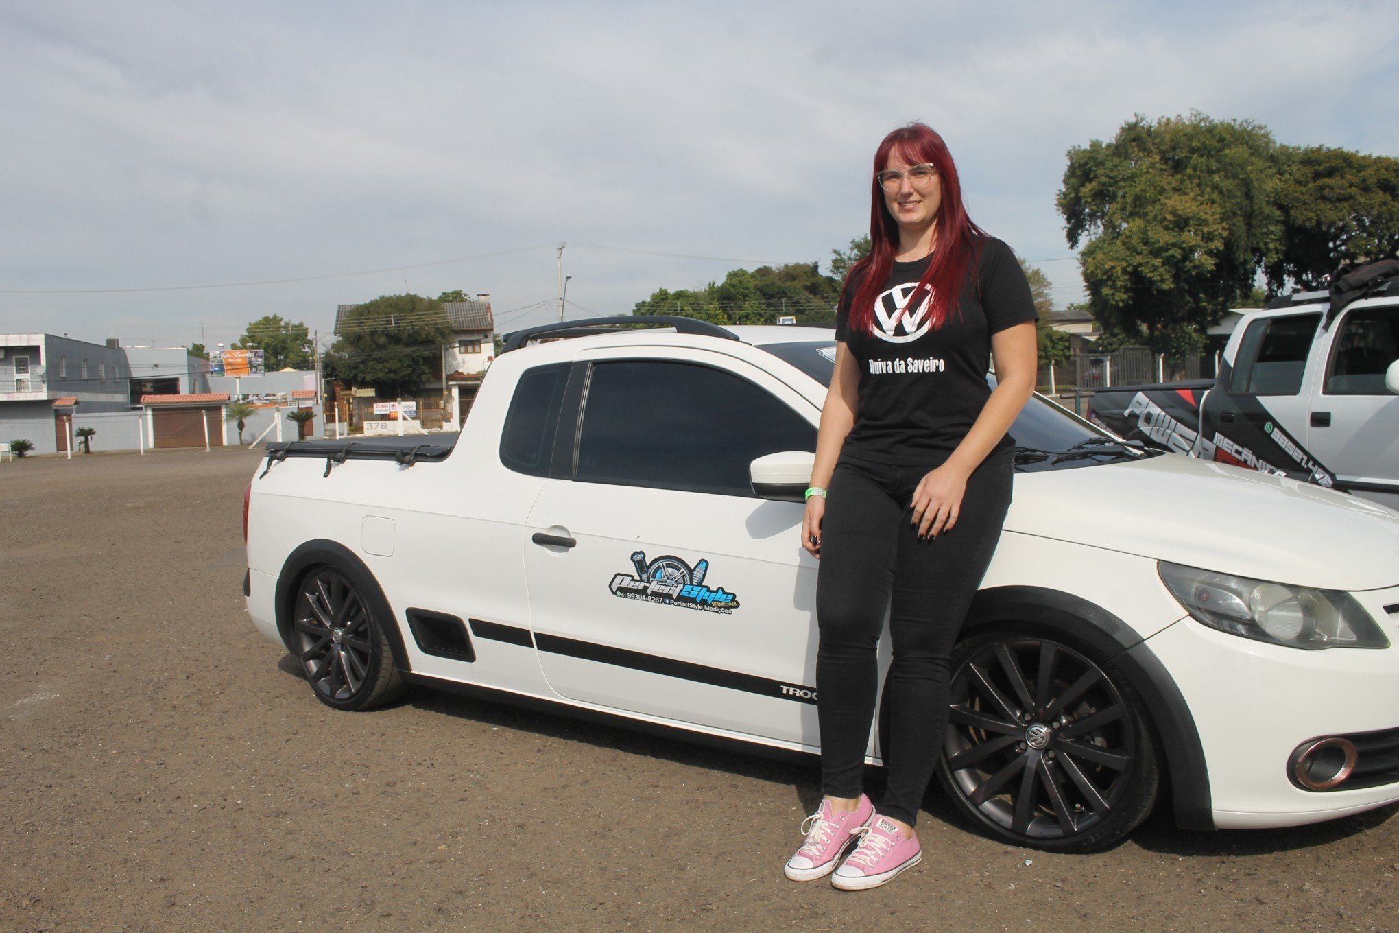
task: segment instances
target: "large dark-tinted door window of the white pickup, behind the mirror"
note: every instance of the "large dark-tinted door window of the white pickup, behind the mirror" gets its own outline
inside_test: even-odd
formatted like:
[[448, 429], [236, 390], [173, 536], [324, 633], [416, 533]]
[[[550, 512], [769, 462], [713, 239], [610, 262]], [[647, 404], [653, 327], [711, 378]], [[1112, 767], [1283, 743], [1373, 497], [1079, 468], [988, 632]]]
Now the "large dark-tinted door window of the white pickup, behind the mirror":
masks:
[[593, 365], [579, 480], [753, 495], [748, 463], [778, 450], [816, 450], [816, 428], [747, 379], [660, 359]]

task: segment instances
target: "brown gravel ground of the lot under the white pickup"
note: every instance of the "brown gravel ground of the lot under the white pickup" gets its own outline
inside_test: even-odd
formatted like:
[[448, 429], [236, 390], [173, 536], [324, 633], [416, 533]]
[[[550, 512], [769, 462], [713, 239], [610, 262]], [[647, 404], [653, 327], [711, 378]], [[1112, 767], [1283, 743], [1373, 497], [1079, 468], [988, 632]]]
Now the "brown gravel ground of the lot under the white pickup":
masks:
[[841, 894], [781, 874], [813, 767], [431, 692], [330, 711], [243, 611], [255, 463], [0, 464], [0, 930], [1399, 927], [1392, 807], [1055, 856], [933, 792], [923, 864]]

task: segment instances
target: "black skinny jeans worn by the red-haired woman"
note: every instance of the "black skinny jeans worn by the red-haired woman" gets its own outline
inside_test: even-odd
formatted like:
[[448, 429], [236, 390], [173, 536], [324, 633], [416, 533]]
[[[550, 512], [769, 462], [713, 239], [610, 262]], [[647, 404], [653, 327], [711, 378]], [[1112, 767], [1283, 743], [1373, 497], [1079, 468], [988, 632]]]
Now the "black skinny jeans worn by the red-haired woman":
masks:
[[816, 660], [821, 789], [858, 797], [879, 692], [880, 629], [890, 611], [888, 790], [880, 813], [914, 825], [947, 730], [949, 662], [1010, 508], [1010, 453], [967, 481], [951, 532], [918, 540], [912, 498], [937, 463], [841, 457], [821, 522]]

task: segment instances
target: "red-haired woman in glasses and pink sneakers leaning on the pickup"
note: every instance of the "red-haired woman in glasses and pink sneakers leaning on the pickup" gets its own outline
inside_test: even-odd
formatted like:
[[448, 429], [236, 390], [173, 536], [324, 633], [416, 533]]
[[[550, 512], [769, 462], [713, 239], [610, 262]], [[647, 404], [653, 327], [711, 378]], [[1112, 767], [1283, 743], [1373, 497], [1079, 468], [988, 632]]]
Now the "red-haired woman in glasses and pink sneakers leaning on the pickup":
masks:
[[[967, 217], [942, 137], [922, 123], [884, 137], [872, 192], [870, 255], [841, 295], [802, 522], [821, 561], [824, 797], [785, 867], [797, 881], [834, 871], [842, 890], [884, 884], [922, 857], [914, 822], [947, 727], [949, 659], [1010, 505], [1006, 431], [1037, 365], [1030, 285], [1010, 248]], [[886, 608], [891, 751], [876, 813], [860, 778]]]

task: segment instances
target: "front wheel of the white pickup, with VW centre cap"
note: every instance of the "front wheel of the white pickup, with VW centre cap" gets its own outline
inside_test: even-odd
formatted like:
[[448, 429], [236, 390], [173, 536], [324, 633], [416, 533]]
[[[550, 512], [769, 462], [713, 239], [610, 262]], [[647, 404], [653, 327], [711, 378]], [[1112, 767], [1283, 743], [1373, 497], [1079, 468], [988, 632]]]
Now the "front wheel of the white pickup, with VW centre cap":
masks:
[[1021, 627], [957, 646], [937, 778], [986, 835], [1049, 852], [1121, 842], [1160, 786], [1128, 678], [1087, 646]]

